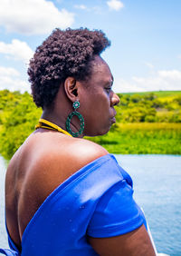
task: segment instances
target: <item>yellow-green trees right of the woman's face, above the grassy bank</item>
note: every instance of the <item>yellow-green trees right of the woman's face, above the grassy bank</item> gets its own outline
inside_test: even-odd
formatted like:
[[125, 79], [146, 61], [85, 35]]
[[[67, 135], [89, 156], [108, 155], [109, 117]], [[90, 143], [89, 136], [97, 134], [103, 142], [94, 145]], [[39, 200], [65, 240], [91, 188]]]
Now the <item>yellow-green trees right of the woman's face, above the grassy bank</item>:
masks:
[[181, 94], [157, 94], [119, 94], [118, 122], [181, 123]]

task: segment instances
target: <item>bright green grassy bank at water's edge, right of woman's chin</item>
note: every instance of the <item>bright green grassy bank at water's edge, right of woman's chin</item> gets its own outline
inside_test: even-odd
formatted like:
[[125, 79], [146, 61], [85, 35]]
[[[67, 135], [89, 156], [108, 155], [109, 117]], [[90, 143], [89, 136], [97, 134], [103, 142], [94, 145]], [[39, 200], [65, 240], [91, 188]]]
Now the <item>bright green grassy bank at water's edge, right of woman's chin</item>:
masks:
[[181, 123], [118, 123], [114, 131], [89, 139], [110, 153], [181, 154]]

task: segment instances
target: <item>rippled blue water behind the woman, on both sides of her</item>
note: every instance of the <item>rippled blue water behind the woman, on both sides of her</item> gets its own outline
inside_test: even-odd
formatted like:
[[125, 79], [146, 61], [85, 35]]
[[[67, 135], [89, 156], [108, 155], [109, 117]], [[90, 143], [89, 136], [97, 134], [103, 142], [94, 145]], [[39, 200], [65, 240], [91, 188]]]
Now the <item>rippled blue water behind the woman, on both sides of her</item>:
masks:
[[[135, 199], [144, 209], [157, 251], [181, 256], [181, 156], [117, 154], [116, 158], [133, 179]], [[5, 164], [0, 156], [1, 247], [7, 247]]]

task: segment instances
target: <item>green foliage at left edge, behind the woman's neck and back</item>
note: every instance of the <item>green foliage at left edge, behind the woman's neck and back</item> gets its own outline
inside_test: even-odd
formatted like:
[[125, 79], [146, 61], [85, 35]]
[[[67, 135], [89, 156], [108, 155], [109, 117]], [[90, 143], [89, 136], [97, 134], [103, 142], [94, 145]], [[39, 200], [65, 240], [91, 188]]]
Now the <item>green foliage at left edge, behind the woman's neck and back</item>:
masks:
[[0, 91], [0, 153], [7, 159], [15, 153], [33, 132], [41, 110], [28, 93]]

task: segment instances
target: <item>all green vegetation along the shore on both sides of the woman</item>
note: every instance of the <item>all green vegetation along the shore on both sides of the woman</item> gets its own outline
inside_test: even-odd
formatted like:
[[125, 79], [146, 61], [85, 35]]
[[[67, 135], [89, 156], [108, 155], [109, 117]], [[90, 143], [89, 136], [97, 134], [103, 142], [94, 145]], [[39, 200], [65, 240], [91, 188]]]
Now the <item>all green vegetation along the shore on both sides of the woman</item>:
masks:
[[[117, 123], [90, 138], [110, 153], [181, 154], [181, 91], [119, 94]], [[9, 159], [33, 132], [42, 110], [28, 93], [0, 91], [0, 153]]]

